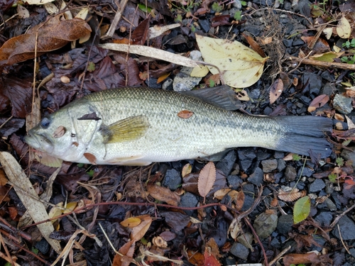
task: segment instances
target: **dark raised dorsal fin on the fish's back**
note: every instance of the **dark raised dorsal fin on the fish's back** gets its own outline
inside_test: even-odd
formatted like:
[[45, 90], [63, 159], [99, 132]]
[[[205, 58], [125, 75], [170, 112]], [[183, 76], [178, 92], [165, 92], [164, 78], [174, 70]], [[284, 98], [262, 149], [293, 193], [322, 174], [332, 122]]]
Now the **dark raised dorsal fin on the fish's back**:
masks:
[[197, 97], [209, 104], [214, 104], [229, 111], [241, 108], [241, 101], [237, 99], [234, 90], [227, 85], [197, 89], [195, 91], [182, 92], [182, 94]]

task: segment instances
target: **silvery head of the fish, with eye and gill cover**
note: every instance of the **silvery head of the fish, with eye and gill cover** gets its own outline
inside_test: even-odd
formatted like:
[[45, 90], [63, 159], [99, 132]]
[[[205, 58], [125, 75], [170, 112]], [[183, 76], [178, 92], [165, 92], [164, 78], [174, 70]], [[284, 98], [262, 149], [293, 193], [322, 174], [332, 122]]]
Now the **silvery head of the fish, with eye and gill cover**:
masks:
[[35, 150], [68, 162], [78, 162], [99, 130], [101, 118], [90, 104], [69, 104], [45, 116], [28, 131], [25, 141]]

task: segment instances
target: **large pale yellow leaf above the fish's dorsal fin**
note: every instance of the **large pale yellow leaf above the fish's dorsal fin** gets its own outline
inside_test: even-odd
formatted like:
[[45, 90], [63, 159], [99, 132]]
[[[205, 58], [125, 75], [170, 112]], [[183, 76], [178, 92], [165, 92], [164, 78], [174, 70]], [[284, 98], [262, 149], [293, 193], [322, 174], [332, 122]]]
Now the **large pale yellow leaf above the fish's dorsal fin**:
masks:
[[[268, 57], [261, 57], [245, 45], [230, 40], [208, 38], [196, 35], [205, 62], [216, 65], [224, 74], [226, 84], [235, 88], [249, 87], [261, 77], [263, 65]], [[208, 67], [217, 74], [215, 67]]]

